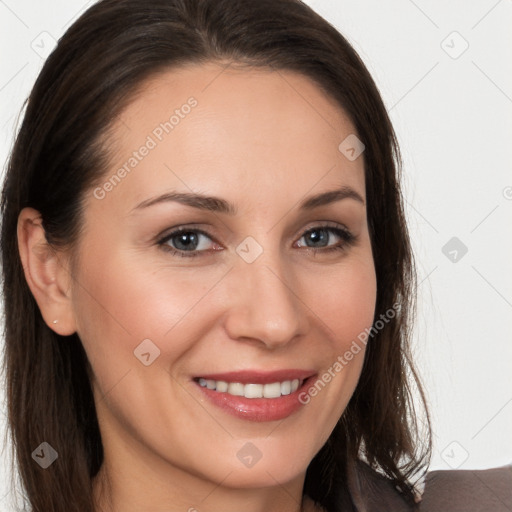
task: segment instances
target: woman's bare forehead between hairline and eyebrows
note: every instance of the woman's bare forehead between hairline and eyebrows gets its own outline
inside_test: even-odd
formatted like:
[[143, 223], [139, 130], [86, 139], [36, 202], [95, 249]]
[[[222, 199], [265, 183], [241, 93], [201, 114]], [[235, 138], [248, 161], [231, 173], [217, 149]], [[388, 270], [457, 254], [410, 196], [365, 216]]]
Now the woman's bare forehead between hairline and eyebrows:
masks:
[[177, 188], [301, 197], [316, 183], [359, 187], [364, 197], [363, 158], [349, 161], [338, 149], [355, 133], [350, 119], [296, 72], [218, 64], [166, 70], [142, 84], [113, 133], [105, 178], [125, 172], [111, 201]]

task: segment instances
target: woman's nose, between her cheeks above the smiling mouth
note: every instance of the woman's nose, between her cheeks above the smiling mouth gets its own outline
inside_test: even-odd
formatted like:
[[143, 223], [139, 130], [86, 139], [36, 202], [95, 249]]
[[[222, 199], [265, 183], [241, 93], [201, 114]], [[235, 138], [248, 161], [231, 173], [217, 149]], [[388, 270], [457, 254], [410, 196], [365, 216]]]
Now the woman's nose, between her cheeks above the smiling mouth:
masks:
[[283, 268], [285, 265], [278, 254], [269, 251], [252, 263], [242, 259], [235, 263], [229, 277], [225, 321], [231, 339], [252, 340], [277, 349], [305, 334], [307, 308], [292, 269]]

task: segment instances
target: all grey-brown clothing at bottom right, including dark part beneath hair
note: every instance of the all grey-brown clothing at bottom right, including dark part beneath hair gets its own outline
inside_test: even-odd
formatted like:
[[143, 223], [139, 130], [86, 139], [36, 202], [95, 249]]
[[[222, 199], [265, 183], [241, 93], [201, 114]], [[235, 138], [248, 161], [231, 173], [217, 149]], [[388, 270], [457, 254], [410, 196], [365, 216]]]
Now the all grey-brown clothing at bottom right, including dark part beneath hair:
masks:
[[512, 465], [480, 470], [430, 471], [417, 505], [393, 482], [362, 461], [349, 470], [349, 488], [359, 512], [510, 512]]

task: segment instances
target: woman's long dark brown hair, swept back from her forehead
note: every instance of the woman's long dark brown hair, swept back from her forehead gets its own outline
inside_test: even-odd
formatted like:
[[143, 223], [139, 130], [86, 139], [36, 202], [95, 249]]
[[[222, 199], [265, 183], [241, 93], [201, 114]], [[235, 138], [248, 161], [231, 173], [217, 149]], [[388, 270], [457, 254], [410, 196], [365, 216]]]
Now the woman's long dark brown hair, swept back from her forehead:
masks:
[[[85, 194], [108, 170], [108, 128], [136, 88], [162, 70], [210, 61], [302, 73], [337, 101], [365, 144], [375, 320], [393, 304], [400, 307], [368, 341], [357, 388], [311, 461], [304, 493], [328, 511], [351, 503], [347, 467], [365, 460], [412, 502], [411, 476], [431, 453], [429, 415], [409, 349], [415, 269], [396, 136], [363, 62], [300, 0], [103, 0], [68, 29], [39, 74], [1, 198], [8, 421], [31, 509], [92, 512], [103, 450], [89, 362], [76, 333], [64, 339], [43, 321], [20, 262], [18, 215], [35, 208], [48, 242], [72, 248]], [[426, 413], [424, 434], [411, 383]], [[31, 456], [42, 441], [59, 453], [46, 470]]]

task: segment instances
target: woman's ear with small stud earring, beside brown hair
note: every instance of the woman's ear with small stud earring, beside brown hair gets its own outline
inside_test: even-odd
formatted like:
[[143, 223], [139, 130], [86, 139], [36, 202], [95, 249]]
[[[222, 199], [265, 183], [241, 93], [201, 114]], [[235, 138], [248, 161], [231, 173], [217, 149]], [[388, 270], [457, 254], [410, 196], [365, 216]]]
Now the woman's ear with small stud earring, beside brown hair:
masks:
[[73, 334], [68, 259], [48, 244], [41, 214], [33, 208], [23, 208], [18, 216], [18, 247], [25, 279], [46, 325], [61, 336]]

